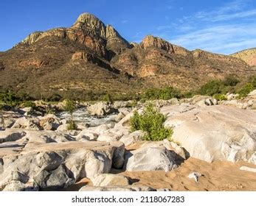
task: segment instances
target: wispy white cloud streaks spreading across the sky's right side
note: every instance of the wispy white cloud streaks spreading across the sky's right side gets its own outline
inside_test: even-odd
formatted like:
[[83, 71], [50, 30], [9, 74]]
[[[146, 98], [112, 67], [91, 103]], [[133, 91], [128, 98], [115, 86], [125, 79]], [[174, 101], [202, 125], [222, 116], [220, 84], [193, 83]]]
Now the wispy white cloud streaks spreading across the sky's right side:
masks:
[[[252, 0], [235, 0], [213, 10], [184, 16], [177, 24], [159, 26], [162, 37], [187, 49], [230, 54], [256, 46], [256, 10]], [[173, 36], [175, 29], [176, 35]], [[170, 38], [170, 35], [171, 38]]]

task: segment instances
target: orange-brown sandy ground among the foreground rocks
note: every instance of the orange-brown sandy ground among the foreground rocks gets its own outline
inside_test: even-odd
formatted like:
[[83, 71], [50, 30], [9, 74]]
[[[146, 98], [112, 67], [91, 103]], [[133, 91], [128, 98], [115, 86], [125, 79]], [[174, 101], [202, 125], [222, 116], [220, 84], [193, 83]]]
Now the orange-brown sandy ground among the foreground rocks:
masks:
[[[249, 163], [217, 161], [207, 163], [190, 157], [179, 168], [165, 171], [112, 171], [131, 178], [134, 185], [147, 185], [151, 188], [170, 188], [172, 191], [256, 191], [256, 173], [241, 171], [241, 166], [256, 168]], [[198, 182], [187, 178], [193, 171], [202, 174]], [[84, 185], [91, 185], [89, 179], [77, 182], [68, 191], [78, 191]]]

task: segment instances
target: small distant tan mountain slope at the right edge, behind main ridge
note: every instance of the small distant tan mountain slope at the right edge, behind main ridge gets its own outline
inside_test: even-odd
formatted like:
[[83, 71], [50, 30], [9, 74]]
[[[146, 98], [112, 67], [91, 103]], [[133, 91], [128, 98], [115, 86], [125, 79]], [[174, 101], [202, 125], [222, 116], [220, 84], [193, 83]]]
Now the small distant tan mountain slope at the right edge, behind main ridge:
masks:
[[235, 54], [231, 54], [231, 56], [245, 61], [248, 65], [256, 66], [256, 48], [238, 51]]

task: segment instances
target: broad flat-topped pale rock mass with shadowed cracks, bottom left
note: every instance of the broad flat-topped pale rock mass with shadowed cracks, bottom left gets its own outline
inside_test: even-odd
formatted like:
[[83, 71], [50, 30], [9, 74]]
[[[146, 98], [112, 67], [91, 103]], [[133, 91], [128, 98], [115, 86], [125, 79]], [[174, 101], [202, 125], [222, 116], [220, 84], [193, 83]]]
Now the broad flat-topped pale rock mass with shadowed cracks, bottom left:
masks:
[[119, 142], [28, 143], [12, 154], [0, 147], [0, 191], [20, 191], [29, 183], [34, 189], [66, 188], [80, 178], [108, 173], [120, 147]]

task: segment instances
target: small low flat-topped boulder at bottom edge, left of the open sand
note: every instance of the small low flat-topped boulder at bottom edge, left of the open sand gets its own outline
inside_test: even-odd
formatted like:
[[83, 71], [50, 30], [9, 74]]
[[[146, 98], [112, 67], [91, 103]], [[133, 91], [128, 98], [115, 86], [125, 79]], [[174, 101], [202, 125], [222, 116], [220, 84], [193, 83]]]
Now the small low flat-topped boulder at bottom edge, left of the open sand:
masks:
[[129, 185], [128, 178], [118, 174], [96, 174], [91, 182], [96, 187]]

